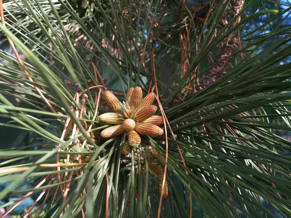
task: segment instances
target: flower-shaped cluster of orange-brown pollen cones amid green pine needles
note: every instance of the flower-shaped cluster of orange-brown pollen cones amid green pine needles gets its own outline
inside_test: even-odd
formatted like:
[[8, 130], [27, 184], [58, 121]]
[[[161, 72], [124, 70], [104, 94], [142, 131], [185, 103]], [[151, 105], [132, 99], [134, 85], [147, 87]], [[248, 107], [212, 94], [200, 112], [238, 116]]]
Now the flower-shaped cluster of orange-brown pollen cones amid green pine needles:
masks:
[[130, 146], [136, 147], [141, 143], [141, 135], [161, 136], [163, 124], [161, 116], [155, 116], [157, 107], [152, 105], [155, 93], [149, 93], [143, 99], [141, 87], [130, 88], [123, 104], [111, 92], [105, 91], [104, 98], [113, 109], [112, 113], [104, 113], [99, 116], [101, 122], [113, 124], [101, 132], [101, 137], [110, 138], [127, 133]]

